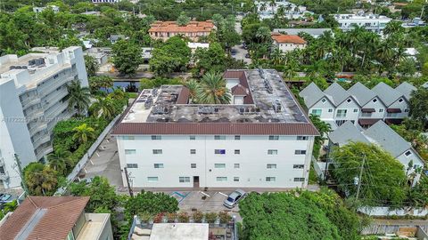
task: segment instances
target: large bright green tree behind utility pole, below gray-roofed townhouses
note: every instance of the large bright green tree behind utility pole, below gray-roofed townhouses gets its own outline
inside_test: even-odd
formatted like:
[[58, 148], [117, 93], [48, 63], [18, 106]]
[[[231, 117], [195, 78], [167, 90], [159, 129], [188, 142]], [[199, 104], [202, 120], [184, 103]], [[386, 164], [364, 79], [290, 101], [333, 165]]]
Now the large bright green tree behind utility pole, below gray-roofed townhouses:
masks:
[[[333, 177], [348, 196], [357, 195], [359, 184], [359, 200], [364, 204], [399, 206], [406, 200], [408, 187], [404, 166], [382, 148], [350, 142], [333, 148], [331, 158], [335, 166]], [[356, 180], [361, 167], [362, 177]]]

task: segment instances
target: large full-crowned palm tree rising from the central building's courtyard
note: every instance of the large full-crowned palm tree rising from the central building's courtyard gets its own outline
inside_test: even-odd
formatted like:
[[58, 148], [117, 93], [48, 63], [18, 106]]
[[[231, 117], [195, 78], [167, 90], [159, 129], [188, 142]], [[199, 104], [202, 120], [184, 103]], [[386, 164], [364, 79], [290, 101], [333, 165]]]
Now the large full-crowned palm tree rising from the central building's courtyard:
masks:
[[198, 101], [202, 104], [229, 104], [230, 92], [226, 88], [226, 81], [219, 73], [206, 73], [202, 76], [201, 90], [198, 92]]

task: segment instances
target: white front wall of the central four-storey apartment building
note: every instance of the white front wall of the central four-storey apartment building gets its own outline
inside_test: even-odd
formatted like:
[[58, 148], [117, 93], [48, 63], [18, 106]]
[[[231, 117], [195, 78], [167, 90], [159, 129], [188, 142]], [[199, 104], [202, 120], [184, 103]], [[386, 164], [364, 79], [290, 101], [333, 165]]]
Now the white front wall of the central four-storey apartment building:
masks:
[[[161, 140], [138, 135], [135, 140], [118, 137], [120, 168], [127, 164], [138, 164], [128, 168], [133, 187], [192, 188], [193, 176], [199, 176], [200, 187], [210, 188], [296, 188], [306, 187], [313, 137], [296, 140], [296, 136], [280, 136], [279, 140], [268, 140], [268, 136], [226, 135], [226, 140], [214, 140], [213, 135], [197, 135], [189, 140], [188, 135], [162, 135]], [[136, 149], [135, 155], [125, 155], [125, 149]], [[161, 155], [153, 155], [152, 149], [162, 149]], [[196, 149], [191, 155], [190, 150]], [[225, 155], [214, 154], [215, 149], [225, 149]], [[235, 149], [240, 154], [235, 154]], [[277, 155], [268, 155], [268, 149], [277, 149]], [[294, 155], [295, 150], [306, 150], [306, 155]], [[153, 164], [163, 164], [155, 169]], [[196, 164], [196, 168], [191, 168]], [[215, 168], [215, 164], [226, 164], [226, 168]], [[235, 164], [240, 164], [235, 168]], [[267, 164], [276, 164], [268, 169]], [[303, 164], [302, 169], [293, 169], [293, 164]], [[123, 182], [126, 183], [125, 175]], [[148, 182], [147, 177], [158, 177], [157, 182]], [[190, 182], [180, 183], [179, 177], [190, 177]], [[218, 181], [217, 177], [226, 177]], [[234, 181], [239, 177], [239, 181]], [[275, 182], [266, 181], [275, 177]], [[294, 178], [305, 178], [294, 181]]]

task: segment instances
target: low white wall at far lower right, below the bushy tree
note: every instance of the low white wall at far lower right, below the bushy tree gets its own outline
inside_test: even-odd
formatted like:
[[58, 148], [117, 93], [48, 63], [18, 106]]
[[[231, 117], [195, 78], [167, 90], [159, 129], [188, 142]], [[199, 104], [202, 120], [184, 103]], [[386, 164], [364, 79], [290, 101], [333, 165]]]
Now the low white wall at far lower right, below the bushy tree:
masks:
[[372, 217], [382, 217], [382, 216], [416, 216], [416, 217], [424, 217], [428, 214], [428, 210], [426, 208], [412, 208], [405, 207], [401, 209], [391, 209], [389, 207], [360, 207], [358, 208], [358, 212], [364, 213], [368, 216]]

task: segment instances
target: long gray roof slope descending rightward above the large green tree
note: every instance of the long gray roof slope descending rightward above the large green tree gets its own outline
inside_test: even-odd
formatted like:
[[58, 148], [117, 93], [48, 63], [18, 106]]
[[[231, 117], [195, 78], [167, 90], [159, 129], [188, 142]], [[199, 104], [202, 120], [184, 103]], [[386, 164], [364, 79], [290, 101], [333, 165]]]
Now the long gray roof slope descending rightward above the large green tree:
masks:
[[401, 138], [397, 132], [393, 131], [383, 121], [378, 121], [372, 125], [364, 134], [394, 157], [403, 154], [412, 147], [410, 143]]

